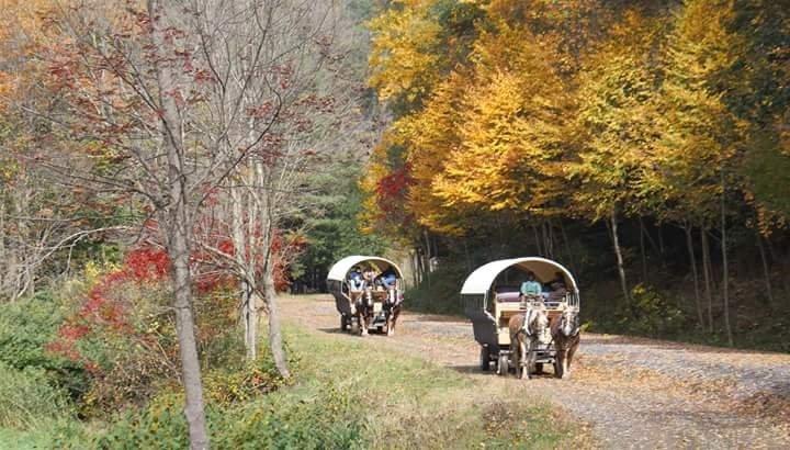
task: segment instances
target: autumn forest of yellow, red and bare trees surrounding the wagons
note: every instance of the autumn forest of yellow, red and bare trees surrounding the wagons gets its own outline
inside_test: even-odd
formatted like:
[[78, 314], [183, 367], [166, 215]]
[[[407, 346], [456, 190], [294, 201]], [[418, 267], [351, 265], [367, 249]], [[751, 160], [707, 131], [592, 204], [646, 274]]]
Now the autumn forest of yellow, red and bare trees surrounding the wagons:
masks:
[[589, 330], [790, 350], [787, 1], [1, 5], [13, 439], [353, 441], [331, 390], [247, 407], [298, 368], [275, 292], [349, 254], [410, 308], [539, 255]]

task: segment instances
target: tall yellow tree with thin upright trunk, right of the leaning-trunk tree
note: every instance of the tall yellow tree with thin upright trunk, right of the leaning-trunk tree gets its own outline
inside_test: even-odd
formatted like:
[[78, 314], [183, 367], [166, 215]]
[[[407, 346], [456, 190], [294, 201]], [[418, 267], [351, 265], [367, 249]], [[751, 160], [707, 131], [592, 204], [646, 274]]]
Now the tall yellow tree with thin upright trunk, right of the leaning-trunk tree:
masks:
[[[656, 160], [664, 191], [685, 217], [704, 230], [719, 222], [724, 326], [732, 345], [725, 206], [727, 187], [741, 184], [731, 168], [738, 166], [744, 123], [725, 104], [716, 79], [736, 63], [743, 42], [729, 30], [732, 2], [710, 3], [687, 1], [669, 36], [662, 87], [665, 134]], [[709, 305], [712, 327], [711, 310]]]

